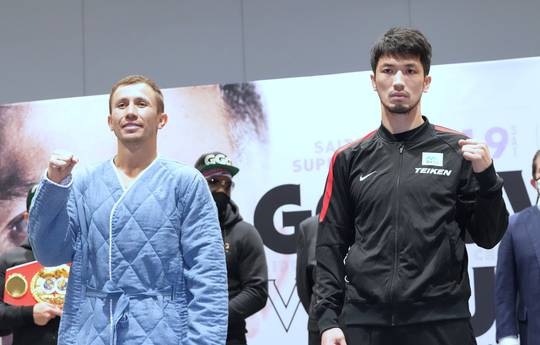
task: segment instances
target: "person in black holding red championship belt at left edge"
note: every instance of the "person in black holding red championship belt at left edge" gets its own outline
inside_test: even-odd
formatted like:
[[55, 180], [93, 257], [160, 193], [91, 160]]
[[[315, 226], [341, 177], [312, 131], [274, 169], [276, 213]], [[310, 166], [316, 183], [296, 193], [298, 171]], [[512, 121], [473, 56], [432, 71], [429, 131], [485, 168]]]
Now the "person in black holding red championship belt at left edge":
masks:
[[[26, 212], [23, 215], [26, 219], [36, 187], [32, 187], [28, 192]], [[34, 306], [12, 306], [4, 303], [6, 270], [34, 260], [27, 239], [20, 247], [12, 248], [0, 256], [0, 335], [13, 334], [13, 345], [52, 345], [57, 341], [59, 316], [62, 315], [60, 308], [46, 302], [39, 302]]]

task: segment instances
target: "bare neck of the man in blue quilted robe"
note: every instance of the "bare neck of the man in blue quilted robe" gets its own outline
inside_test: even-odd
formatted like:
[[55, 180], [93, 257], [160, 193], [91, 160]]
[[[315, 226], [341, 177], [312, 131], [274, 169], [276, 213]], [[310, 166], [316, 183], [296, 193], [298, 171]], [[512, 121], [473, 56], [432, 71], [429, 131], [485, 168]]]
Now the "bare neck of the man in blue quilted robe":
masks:
[[118, 143], [118, 151], [114, 164], [127, 177], [135, 178], [146, 169], [157, 157], [156, 143], [125, 145]]

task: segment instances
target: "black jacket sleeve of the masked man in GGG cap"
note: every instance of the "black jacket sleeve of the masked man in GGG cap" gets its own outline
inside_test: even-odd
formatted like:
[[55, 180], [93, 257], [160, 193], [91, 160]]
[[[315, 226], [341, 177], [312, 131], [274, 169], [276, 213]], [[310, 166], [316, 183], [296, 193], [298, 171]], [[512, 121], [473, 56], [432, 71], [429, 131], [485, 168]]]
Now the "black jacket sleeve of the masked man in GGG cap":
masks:
[[268, 267], [261, 236], [251, 227], [241, 241], [238, 272], [242, 290], [229, 301], [230, 319], [246, 319], [264, 308], [268, 298]]

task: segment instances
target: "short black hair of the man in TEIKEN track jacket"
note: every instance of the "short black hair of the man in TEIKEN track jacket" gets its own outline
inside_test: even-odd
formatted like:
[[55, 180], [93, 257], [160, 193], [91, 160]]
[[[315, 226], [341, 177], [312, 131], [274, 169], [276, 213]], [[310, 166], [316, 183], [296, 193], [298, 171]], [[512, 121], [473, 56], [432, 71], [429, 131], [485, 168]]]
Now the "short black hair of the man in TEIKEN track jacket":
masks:
[[431, 44], [418, 30], [393, 27], [379, 38], [371, 48], [371, 69], [375, 73], [381, 56], [417, 56], [424, 67], [424, 75], [431, 67]]

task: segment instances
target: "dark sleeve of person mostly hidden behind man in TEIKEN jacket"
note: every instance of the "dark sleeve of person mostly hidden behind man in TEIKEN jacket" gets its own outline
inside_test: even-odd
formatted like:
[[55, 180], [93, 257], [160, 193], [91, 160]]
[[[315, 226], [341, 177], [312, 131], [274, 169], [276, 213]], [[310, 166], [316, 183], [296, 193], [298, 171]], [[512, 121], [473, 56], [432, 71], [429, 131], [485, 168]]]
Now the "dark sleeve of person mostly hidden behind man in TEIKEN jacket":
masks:
[[311, 285], [309, 284], [309, 275], [307, 267], [307, 254], [308, 248], [306, 243], [306, 234], [305, 234], [306, 221], [300, 223], [298, 236], [297, 236], [297, 246], [296, 246], [296, 291], [298, 292], [298, 297], [300, 297], [300, 302], [306, 312], [309, 313], [309, 304], [311, 302]]

